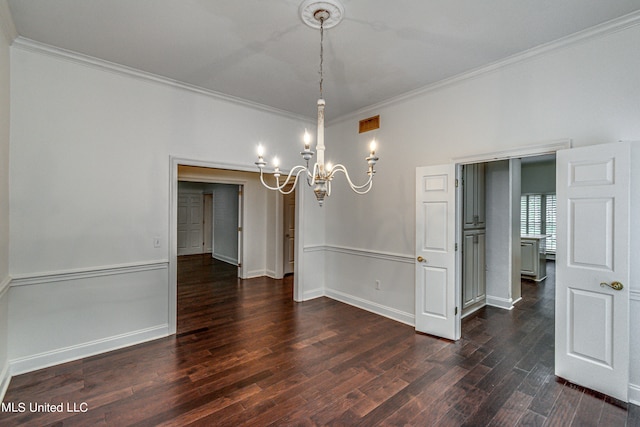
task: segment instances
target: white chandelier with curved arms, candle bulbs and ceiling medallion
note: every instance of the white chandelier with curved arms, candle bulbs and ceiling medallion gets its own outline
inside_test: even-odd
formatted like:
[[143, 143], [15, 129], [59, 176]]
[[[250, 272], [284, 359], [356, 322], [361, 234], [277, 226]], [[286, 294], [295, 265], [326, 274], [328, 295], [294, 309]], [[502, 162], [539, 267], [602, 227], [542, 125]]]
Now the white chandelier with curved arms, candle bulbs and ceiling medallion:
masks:
[[[298, 178], [300, 175], [304, 175], [307, 181], [307, 184], [313, 188], [313, 192], [316, 195], [316, 199], [320, 206], [322, 206], [325, 197], [331, 195], [331, 181], [333, 177], [338, 173], [342, 172], [349, 183], [351, 189], [357, 194], [366, 194], [371, 190], [373, 185], [373, 175], [376, 171], [373, 169], [376, 162], [378, 161], [378, 157], [376, 157], [376, 141], [375, 139], [371, 141], [371, 145], [369, 146], [370, 152], [369, 156], [365, 158], [367, 161], [368, 169], [367, 181], [362, 185], [355, 185], [351, 178], [349, 177], [349, 172], [347, 168], [341, 164], [331, 165], [330, 163], [325, 163], [324, 159], [324, 107], [325, 102], [322, 97], [322, 83], [323, 83], [323, 63], [324, 63], [324, 30], [325, 28], [331, 28], [336, 26], [343, 17], [344, 9], [337, 0], [329, 0], [329, 1], [316, 1], [316, 0], [305, 0], [300, 5], [300, 17], [304, 21], [305, 24], [312, 28], [320, 29], [320, 99], [318, 99], [318, 127], [317, 127], [317, 139], [316, 139], [316, 153], [311, 151], [311, 136], [305, 130], [303, 141], [304, 141], [304, 150], [300, 152], [300, 155], [305, 161], [305, 165], [297, 165], [294, 166], [291, 171], [287, 174], [286, 178], [281, 179], [282, 174], [280, 173], [280, 164], [277, 158], [273, 160], [274, 172], [273, 176], [275, 178], [275, 186], [268, 185], [264, 180], [264, 168], [267, 165], [267, 162], [264, 160], [264, 148], [262, 145], [258, 146], [258, 161], [255, 164], [260, 169], [260, 181], [262, 185], [270, 190], [279, 191], [282, 194], [290, 194], [296, 188], [296, 184], [298, 183]], [[313, 166], [310, 166], [309, 161], [313, 157], [314, 154], [317, 154], [316, 161]]]

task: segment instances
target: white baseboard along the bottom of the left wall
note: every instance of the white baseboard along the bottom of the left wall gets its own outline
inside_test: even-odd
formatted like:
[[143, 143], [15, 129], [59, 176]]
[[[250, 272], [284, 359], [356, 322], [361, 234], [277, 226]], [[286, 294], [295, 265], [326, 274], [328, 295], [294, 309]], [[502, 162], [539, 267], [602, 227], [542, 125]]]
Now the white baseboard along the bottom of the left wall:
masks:
[[19, 375], [61, 363], [78, 360], [119, 348], [163, 338], [169, 335], [169, 325], [157, 325], [126, 334], [89, 341], [32, 356], [13, 359], [9, 362], [11, 375]]

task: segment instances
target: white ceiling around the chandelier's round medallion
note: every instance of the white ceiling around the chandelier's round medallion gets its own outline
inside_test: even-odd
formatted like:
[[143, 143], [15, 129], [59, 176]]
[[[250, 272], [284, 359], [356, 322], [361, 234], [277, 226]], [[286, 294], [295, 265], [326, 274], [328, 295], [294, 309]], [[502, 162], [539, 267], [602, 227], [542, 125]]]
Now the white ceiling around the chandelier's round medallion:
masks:
[[[24, 38], [313, 117], [320, 34], [302, 0], [9, 0]], [[344, 0], [327, 119], [640, 10], [640, 0]]]

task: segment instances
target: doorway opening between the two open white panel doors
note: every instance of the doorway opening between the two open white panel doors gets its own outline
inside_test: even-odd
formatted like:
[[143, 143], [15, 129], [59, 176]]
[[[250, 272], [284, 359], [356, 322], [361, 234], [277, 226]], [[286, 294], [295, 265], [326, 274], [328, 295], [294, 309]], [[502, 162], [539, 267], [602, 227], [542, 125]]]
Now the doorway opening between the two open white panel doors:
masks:
[[555, 259], [555, 169], [555, 154], [460, 166], [462, 317], [485, 305], [510, 310], [522, 278], [546, 277], [546, 259]]

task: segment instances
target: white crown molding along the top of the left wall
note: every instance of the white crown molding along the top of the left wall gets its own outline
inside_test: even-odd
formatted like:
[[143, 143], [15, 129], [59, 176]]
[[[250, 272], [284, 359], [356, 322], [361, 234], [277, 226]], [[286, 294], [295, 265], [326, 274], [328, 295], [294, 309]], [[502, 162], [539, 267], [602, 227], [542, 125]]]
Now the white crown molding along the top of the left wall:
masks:
[[[0, 0], [0, 2], [3, 0]], [[243, 107], [252, 108], [254, 110], [276, 114], [285, 118], [300, 120], [304, 122], [312, 122], [312, 119], [306, 116], [292, 113], [290, 111], [281, 110], [275, 107], [270, 107], [258, 102], [249, 101], [243, 98], [239, 98], [233, 95], [227, 95], [222, 92], [216, 92], [214, 90], [205, 89], [203, 87], [183, 83], [178, 80], [163, 77], [158, 74], [149, 73], [146, 71], [138, 70], [136, 68], [127, 67], [115, 62], [105, 61], [100, 58], [96, 58], [82, 53], [74, 52], [67, 49], [62, 49], [56, 46], [51, 46], [45, 43], [41, 43], [35, 40], [31, 40], [22, 36], [18, 36], [14, 42], [13, 47], [24, 51], [40, 53], [56, 57], [58, 59], [66, 60], [69, 62], [75, 62], [77, 64], [85, 65], [87, 67], [96, 68], [102, 71], [121, 74], [129, 77], [133, 77], [148, 82], [159, 83], [165, 86], [170, 86], [188, 92], [197, 93], [199, 95], [205, 95], [219, 101], [229, 102]]]

